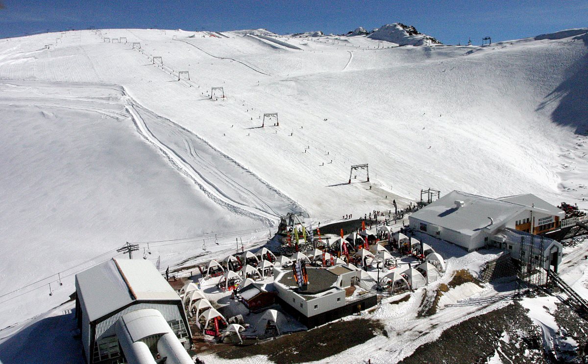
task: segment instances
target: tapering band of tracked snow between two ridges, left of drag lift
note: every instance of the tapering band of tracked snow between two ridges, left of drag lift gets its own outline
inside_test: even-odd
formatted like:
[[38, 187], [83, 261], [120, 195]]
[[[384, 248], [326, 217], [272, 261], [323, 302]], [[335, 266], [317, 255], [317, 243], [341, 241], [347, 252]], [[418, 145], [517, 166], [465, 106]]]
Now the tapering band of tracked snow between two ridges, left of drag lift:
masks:
[[[138, 132], [216, 203], [270, 226], [288, 211], [303, 210], [295, 201], [189, 130], [134, 103], [125, 107]], [[198, 143], [205, 145], [202, 148]], [[212, 159], [207, 160], [206, 149], [211, 149], [216, 156], [212, 155]]]

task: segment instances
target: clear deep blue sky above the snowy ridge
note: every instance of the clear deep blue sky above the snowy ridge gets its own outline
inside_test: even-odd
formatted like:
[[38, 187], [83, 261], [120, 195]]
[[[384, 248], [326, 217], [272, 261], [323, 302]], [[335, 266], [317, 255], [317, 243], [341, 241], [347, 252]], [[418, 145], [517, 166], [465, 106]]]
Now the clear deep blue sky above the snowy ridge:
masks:
[[477, 44], [588, 27], [588, 1], [0, 0], [0, 38], [63, 29], [161, 28], [276, 33], [414, 25], [443, 43]]

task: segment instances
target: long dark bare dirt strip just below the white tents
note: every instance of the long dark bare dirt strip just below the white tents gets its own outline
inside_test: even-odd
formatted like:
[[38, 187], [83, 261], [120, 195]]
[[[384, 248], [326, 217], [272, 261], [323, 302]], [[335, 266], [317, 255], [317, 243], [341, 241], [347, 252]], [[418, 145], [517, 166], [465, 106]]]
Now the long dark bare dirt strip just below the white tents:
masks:
[[[353, 332], [353, 335], [349, 335]], [[380, 321], [359, 318], [337, 321], [310, 331], [295, 332], [251, 346], [234, 346], [218, 352], [224, 359], [267, 355], [276, 364], [296, 364], [322, 360], [362, 344], [376, 335], [385, 335]]]

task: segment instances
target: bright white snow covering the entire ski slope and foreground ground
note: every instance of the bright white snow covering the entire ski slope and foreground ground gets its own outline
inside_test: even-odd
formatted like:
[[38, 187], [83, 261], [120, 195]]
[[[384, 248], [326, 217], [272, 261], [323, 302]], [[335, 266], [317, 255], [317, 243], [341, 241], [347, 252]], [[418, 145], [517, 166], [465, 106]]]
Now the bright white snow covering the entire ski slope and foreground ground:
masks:
[[[105, 41], [120, 37], [128, 42]], [[236, 239], [245, 248], [263, 244], [288, 212], [325, 224], [390, 210], [393, 198], [407, 205], [429, 187], [533, 193], [588, 208], [587, 46], [588, 29], [483, 47], [262, 30], [2, 39], [0, 360], [82, 363], [74, 304], [64, 304], [73, 275], [126, 241], [141, 243], [135, 258], [179, 267], [187, 258], [223, 258]], [[211, 97], [212, 87], [226, 97]], [[278, 113], [279, 126], [261, 127], [264, 113]], [[362, 163], [370, 183], [358, 175], [347, 184], [349, 167]], [[436, 314], [417, 318], [425, 290], [496, 257], [426, 242], [455, 257], [443, 279], [366, 313], [395, 335], [376, 335], [329, 362], [399, 362], [451, 326], [511, 302], [512, 288], [466, 285]], [[587, 248], [586, 240], [566, 248], [560, 268], [584, 298]], [[552, 345], [554, 298], [523, 306]]]

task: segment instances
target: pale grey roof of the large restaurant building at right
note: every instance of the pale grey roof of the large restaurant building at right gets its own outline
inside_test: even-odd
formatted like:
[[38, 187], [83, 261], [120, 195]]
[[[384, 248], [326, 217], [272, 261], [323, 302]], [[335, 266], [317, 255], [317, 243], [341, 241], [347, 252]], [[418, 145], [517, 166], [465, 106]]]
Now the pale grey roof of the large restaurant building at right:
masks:
[[[461, 204], [459, 207], [456, 205], [457, 201]], [[509, 218], [525, 210], [552, 214], [551, 211], [538, 206], [530, 207], [497, 198], [452, 191], [416, 211], [409, 219], [414, 218], [471, 236], [483, 228], [499, 227]], [[493, 220], [492, 225], [489, 217]]]

